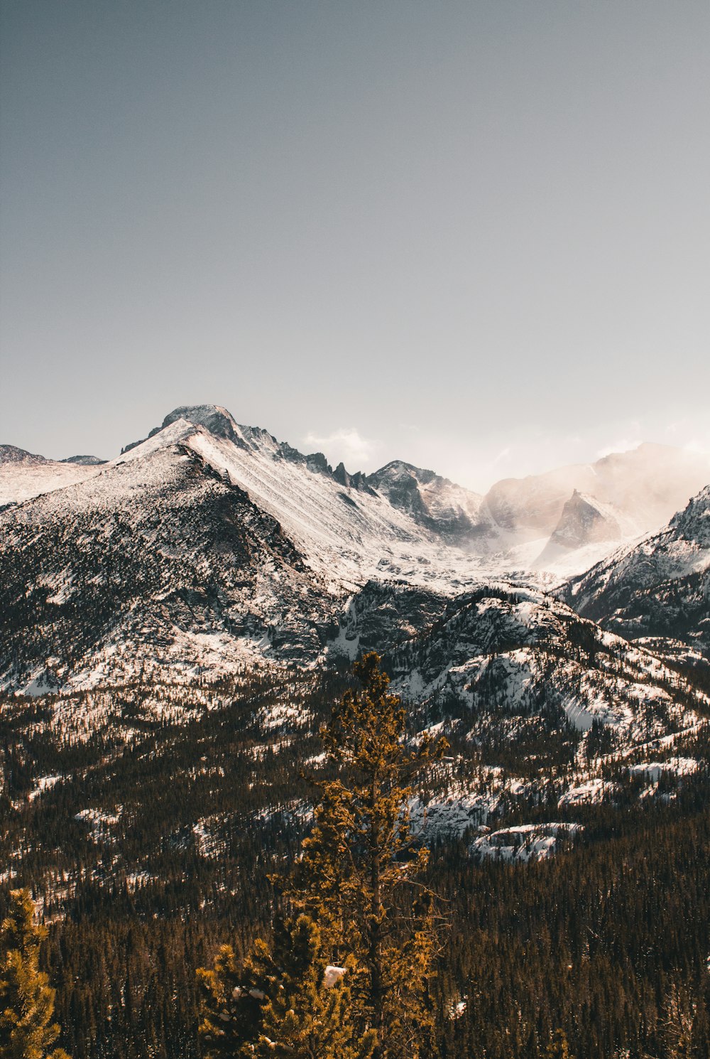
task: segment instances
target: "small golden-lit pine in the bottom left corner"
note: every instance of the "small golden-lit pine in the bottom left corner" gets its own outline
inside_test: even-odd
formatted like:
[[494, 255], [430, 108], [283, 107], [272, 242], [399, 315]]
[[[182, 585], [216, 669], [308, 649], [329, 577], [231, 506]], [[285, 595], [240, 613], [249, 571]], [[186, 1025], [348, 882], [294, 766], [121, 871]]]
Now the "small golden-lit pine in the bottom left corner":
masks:
[[0, 930], [0, 1059], [69, 1059], [61, 1048], [49, 1052], [59, 1026], [51, 1023], [54, 989], [39, 970], [47, 931], [33, 923], [34, 911], [26, 890], [12, 891]]

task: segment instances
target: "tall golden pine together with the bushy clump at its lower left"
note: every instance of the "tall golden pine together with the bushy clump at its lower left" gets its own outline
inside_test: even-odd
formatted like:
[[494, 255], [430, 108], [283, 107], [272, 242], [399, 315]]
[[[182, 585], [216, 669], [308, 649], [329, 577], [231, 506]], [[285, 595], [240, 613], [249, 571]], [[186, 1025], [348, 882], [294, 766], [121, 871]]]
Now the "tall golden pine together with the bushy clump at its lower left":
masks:
[[434, 899], [418, 882], [427, 851], [412, 836], [407, 806], [414, 778], [445, 743], [407, 747], [405, 712], [377, 654], [353, 671], [360, 688], [346, 692], [322, 732], [338, 775], [315, 784], [315, 824], [284, 881], [289, 918], [273, 949], [258, 941], [239, 968], [225, 947], [214, 970], [198, 972], [210, 1059], [436, 1055]]

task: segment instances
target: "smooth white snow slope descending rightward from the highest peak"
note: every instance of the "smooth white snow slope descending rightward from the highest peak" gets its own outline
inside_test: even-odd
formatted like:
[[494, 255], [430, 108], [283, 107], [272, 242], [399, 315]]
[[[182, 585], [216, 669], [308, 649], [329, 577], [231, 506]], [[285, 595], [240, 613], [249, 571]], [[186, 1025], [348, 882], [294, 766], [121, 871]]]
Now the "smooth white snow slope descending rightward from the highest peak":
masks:
[[[208, 410], [179, 411], [214, 426]], [[365, 487], [362, 478], [356, 486], [343, 485], [320, 454], [304, 456], [265, 430], [239, 426], [224, 409], [216, 411], [217, 432], [171, 414], [167, 426], [122, 460], [175, 441], [189, 446], [278, 520], [309, 566], [329, 578], [333, 592], [369, 577], [392, 576], [456, 592], [479, 579], [484, 570], [507, 569], [503, 552], [490, 558], [470, 555], [435, 520], [415, 519], [393, 504], [386, 491], [370, 487], [370, 479]]]

